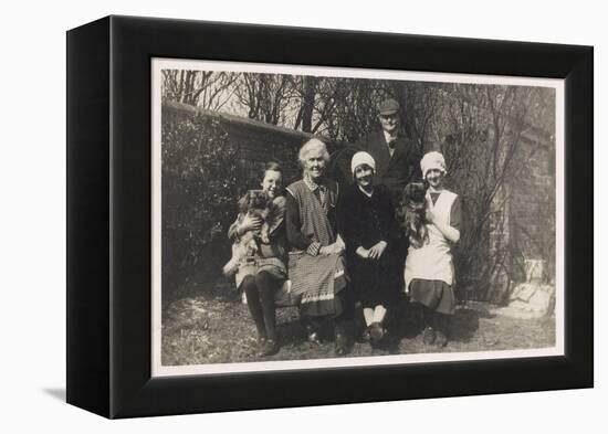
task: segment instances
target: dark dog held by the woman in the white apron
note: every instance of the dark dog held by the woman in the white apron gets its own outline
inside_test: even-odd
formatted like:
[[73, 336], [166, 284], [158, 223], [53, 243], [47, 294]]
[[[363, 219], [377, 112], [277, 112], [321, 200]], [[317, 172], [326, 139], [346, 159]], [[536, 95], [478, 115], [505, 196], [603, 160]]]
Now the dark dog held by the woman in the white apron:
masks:
[[420, 248], [429, 241], [427, 231], [427, 189], [426, 182], [410, 182], [403, 189], [401, 199], [401, 225], [411, 245]]

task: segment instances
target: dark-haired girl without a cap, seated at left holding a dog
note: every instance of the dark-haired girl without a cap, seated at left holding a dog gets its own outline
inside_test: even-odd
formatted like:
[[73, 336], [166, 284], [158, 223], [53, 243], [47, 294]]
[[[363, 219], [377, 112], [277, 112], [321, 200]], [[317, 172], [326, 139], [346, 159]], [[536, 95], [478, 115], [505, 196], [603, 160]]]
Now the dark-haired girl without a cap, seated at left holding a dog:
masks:
[[[275, 293], [287, 278], [286, 237], [284, 225], [285, 198], [282, 195], [283, 172], [276, 162], [269, 162], [262, 178], [262, 190], [268, 193], [279, 215], [270, 227], [270, 243], [260, 243], [260, 250], [237, 271], [237, 287], [247, 295], [249, 311], [258, 329], [259, 356], [272, 356], [279, 351], [276, 336]], [[237, 219], [228, 231], [235, 241], [249, 231], [260, 231], [260, 218], [243, 215]]]

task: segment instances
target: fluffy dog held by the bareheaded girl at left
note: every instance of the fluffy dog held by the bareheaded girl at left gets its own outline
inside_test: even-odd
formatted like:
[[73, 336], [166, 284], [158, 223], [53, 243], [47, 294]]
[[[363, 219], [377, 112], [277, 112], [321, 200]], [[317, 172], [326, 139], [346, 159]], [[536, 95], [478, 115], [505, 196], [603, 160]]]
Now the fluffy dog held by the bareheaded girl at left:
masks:
[[277, 220], [276, 205], [270, 195], [263, 190], [249, 190], [245, 195], [239, 200], [239, 216], [237, 223], [240, 224], [243, 219], [255, 216], [262, 220], [260, 231], [248, 231], [232, 244], [232, 257], [223, 266], [226, 276], [233, 275], [239, 269], [239, 265], [248, 260], [252, 261], [255, 253], [260, 251], [260, 242], [268, 244], [270, 242], [270, 232]]

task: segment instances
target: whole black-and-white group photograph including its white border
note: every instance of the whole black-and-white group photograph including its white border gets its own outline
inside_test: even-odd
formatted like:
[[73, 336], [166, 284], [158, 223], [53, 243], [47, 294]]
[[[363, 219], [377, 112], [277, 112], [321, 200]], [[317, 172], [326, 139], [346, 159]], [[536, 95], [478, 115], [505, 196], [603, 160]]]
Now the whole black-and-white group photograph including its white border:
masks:
[[151, 76], [154, 374], [564, 353], [562, 81]]

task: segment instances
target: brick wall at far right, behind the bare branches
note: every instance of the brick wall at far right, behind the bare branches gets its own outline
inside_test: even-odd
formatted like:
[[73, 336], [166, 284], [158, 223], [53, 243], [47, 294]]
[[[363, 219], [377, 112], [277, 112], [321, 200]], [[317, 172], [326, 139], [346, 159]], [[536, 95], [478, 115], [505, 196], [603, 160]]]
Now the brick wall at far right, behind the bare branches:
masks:
[[531, 272], [535, 279], [555, 283], [555, 194], [554, 138], [523, 135], [513, 172], [494, 200], [499, 212], [491, 222], [490, 250], [501, 250], [505, 268], [493, 276], [491, 301], [505, 301]]

